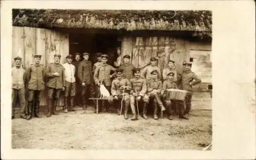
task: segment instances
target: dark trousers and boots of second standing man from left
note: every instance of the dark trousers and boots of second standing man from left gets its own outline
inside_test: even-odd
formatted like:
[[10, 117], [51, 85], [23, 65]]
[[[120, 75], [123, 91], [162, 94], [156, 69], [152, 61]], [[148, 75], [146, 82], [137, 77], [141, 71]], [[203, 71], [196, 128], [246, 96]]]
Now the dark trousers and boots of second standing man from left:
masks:
[[[29, 115], [32, 113], [32, 115], [38, 114], [39, 112], [39, 104], [40, 104], [40, 98], [41, 98], [42, 90], [31, 90], [29, 89], [28, 93], [28, 111]], [[33, 99], [35, 99], [35, 103], [33, 104]], [[29, 108], [32, 107], [32, 108]]]

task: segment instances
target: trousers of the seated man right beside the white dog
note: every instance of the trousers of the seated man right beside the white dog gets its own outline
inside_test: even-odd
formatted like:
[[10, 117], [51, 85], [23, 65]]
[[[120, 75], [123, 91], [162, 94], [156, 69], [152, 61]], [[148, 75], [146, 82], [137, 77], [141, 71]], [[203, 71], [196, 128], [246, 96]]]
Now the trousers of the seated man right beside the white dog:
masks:
[[129, 94], [124, 93], [124, 97], [123, 97], [122, 94], [118, 94], [117, 97], [118, 97], [118, 100], [114, 99], [114, 96], [111, 95], [110, 98], [109, 98], [110, 104], [115, 105], [116, 109], [120, 110], [121, 106], [119, 106], [117, 104], [118, 104], [118, 102], [122, 101], [122, 98], [123, 98], [124, 112], [126, 113], [128, 111], [128, 107], [129, 107], [129, 103], [130, 103], [130, 96], [129, 96]]

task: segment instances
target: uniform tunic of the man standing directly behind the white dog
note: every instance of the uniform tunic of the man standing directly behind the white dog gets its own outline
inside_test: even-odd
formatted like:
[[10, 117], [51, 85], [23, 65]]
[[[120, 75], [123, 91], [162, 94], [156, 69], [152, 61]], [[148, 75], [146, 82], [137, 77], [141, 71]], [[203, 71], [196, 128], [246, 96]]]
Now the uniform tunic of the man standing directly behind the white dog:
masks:
[[[105, 83], [105, 86], [111, 86], [110, 72], [116, 69], [109, 64], [99, 65], [94, 72], [94, 82], [98, 84], [99, 82]], [[115, 74], [112, 74], [114, 76]]]

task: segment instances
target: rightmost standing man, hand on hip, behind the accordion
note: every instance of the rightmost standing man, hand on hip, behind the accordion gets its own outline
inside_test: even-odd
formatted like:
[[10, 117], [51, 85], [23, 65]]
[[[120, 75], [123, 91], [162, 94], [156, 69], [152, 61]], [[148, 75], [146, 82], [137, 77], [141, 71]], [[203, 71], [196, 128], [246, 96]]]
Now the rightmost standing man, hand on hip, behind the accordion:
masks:
[[181, 84], [182, 84], [182, 89], [187, 90], [187, 95], [185, 98], [185, 104], [186, 104], [186, 109], [185, 109], [185, 115], [188, 115], [190, 109], [191, 109], [191, 98], [192, 98], [192, 86], [196, 85], [198, 83], [201, 82], [201, 79], [194, 73], [191, 71], [191, 66], [192, 63], [191, 62], [183, 62], [183, 67], [184, 70], [182, 72], [182, 80], [181, 80]]

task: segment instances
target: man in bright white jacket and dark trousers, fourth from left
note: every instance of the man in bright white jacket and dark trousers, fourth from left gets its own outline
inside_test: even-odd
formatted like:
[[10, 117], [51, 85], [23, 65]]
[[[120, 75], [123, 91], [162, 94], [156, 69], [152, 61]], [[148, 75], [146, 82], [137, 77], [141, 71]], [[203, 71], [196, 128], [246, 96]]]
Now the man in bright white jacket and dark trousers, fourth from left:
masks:
[[[76, 79], [75, 79], [75, 66], [71, 64], [72, 62], [72, 55], [68, 55], [66, 57], [66, 63], [63, 64], [65, 68], [65, 95], [64, 95], [64, 112], [67, 113], [68, 111], [75, 111], [74, 108], [74, 96], [76, 94]], [[70, 96], [70, 105], [68, 105], [68, 97]]]

